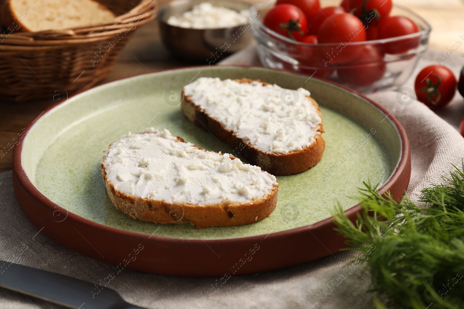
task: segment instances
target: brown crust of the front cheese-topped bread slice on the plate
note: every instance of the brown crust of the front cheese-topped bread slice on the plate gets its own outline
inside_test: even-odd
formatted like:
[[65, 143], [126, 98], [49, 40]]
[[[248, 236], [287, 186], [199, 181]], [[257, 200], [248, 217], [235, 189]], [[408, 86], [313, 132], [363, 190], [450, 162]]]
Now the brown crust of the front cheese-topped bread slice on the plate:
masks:
[[[179, 137], [177, 141], [184, 142]], [[231, 158], [234, 159], [234, 157]], [[277, 205], [278, 186], [273, 187], [265, 198], [245, 204], [226, 202], [200, 206], [141, 198], [117, 191], [114, 184], [108, 180], [103, 162], [100, 163], [100, 166], [103, 182], [111, 202], [124, 214], [141, 221], [161, 224], [191, 223], [196, 228], [244, 225], [263, 220], [272, 213]]]

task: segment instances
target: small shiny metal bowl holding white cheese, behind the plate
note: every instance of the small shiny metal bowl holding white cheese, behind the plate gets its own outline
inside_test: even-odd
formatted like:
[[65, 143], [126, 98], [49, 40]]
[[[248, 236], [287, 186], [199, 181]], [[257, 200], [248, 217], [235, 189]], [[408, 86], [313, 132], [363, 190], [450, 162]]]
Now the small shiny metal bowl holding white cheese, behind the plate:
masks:
[[[250, 7], [249, 4], [229, 0], [208, 0], [214, 6], [240, 11]], [[192, 29], [168, 25], [167, 20], [174, 15], [180, 17], [198, 5], [195, 0], [174, 0], [158, 10], [158, 22], [161, 38], [168, 49], [178, 58], [189, 62], [213, 64], [253, 41], [250, 18], [243, 25], [232, 28]]]

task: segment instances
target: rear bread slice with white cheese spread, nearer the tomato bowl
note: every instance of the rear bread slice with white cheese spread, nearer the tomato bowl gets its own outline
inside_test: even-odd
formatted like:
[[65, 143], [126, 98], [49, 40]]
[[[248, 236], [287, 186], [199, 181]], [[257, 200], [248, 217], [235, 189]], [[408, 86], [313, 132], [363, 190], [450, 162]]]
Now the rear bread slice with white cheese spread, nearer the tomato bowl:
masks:
[[308, 170], [322, 158], [322, 114], [306, 89], [200, 77], [182, 91], [190, 121], [273, 175]]

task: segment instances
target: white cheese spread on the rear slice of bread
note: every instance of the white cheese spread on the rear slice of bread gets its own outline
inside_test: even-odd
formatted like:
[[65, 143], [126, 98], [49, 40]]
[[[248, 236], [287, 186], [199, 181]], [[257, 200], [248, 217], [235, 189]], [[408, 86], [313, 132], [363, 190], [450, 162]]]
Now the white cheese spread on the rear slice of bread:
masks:
[[321, 134], [317, 130], [322, 120], [304, 88], [200, 77], [183, 92], [238, 138], [266, 153], [302, 150]]

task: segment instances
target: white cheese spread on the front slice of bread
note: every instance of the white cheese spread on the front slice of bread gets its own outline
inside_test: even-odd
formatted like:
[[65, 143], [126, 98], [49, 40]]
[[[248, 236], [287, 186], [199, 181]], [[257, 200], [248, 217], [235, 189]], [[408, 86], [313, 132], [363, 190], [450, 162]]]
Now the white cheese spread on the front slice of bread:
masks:
[[122, 136], [104, 153], [107, 181], [128, 195], [198, 205], [252, 202], [278, 186], [258, 166], [176, 139], [153, 128]]

